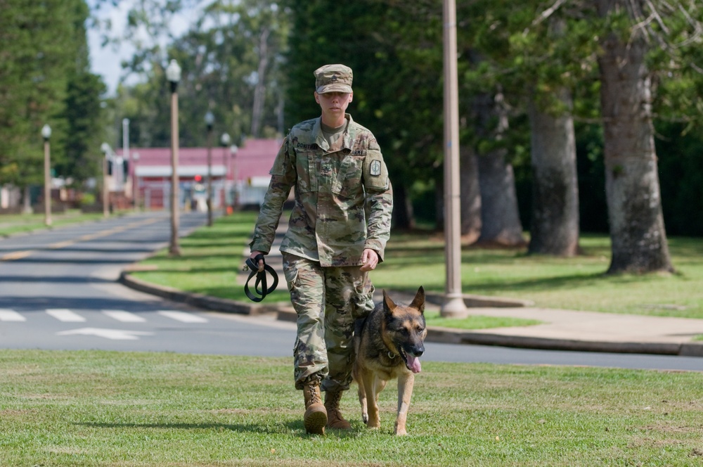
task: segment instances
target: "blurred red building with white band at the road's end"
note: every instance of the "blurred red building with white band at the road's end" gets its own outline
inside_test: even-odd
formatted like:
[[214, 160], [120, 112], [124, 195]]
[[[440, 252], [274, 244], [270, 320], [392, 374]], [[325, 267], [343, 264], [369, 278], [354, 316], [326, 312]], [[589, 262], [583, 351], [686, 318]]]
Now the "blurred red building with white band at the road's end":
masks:
[[[208, 175], [212, 176], [213, 209], [260, 205], [280, 143], [279, 139], [247, 139], [240, 148], [214, 146], [209, 167], [207, 148], [179, 148], [181, 209], [207, 210]], [[111, 192], [124, 193], [145, 209], [169, 207], [171, 148], [129, 148], [127, 155], [118, 149], [110, 160]]]

